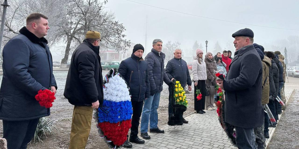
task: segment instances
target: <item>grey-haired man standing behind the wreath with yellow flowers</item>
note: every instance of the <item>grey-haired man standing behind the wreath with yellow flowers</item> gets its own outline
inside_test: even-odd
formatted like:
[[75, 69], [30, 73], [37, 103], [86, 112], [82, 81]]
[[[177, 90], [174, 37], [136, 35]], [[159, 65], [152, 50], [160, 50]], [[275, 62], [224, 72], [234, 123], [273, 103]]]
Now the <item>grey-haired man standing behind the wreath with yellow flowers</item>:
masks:
[[[173, 52], [174, 54], [174, 58], [169, 60], [167, 62], [166, 65], [166, 69], [165, 72], [168, 75], [169, 79], [176, 79], [177, 81], [180, 81], [181, 86], [183, 88], [185, 88], [186, 83], [188, 85], [188, 91], [191, 91], [191, 78], [190, 78], [190, 74], [189, 74], [189, 70], [187, 68], [187, 63], [186, 61], [184, 61], [182, 59], [182, 50], [177, 48], [174, 50]], [[170, 91], [170, 87], [168, 88], [169, 92]], [[170, 118], [170, 116], [173, 114], [173, 109], [172, 106], [175, 101], [171, 100], [171, 95], [169, 94], [169, 98], [168, 98], [168, 119]], [[183, 118], [183, 115], [181, 115], [181, 118], [183, 119], [183, 122], [185, 124], [188, 123], [188, 121], [186, 119]]]

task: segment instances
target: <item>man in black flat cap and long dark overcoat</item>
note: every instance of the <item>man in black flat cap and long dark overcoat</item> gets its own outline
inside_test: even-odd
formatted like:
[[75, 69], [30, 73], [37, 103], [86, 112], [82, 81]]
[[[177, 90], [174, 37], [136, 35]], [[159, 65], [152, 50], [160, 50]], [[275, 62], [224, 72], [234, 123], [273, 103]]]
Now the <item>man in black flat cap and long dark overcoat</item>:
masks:
[[253, 128], [263, 125], [262, 106], [263, 67], [254, 48], [252, 30], [235, 32], [236, 52], [226, 80], [217, 80], [225, 90], [225, 122], [234, 125], [239, 149], [255, 148]]

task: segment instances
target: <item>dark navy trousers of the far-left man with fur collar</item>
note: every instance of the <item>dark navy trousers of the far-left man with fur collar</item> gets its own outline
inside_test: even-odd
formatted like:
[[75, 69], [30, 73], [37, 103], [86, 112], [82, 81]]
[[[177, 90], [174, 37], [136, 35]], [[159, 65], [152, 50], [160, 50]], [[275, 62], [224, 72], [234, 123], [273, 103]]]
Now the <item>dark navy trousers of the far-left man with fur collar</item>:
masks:
[[34, 136], [38, 119], [25, 121], [3, 120], [3, 138], [7, 140], [7, 149], [26, 149]]

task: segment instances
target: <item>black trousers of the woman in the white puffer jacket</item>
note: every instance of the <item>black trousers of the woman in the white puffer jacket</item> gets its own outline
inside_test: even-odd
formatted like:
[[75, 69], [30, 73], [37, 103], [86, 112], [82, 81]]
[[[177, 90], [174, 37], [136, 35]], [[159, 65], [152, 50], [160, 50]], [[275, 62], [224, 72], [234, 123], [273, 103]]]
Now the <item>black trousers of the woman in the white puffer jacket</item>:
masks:
[[200, 89], [200, 92], [202, 93], [202, 99], [197, 100], [196, 86], [194, 85], [194, 110], [201, 111], [205, 109], [205, 80], [197, 81], [197, 89]]

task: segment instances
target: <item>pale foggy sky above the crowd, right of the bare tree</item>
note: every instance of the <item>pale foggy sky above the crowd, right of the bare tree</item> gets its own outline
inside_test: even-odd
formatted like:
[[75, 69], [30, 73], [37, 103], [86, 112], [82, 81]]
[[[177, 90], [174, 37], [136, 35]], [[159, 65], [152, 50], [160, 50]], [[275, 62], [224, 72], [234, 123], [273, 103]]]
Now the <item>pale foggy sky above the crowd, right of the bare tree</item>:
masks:
[[[165, 9], [190, 13], [209, 18], [254, 24], [260, 26], [288, 28], [299, 30], [299, 1], [232, 1], [232, 0], [132, 0]], [[232, 39], [231, 34], [242, 28], [250, 28], [254, 32], [254, 43], [272, 44], [289, 35], [299, 35], [299, 31], [257, 27], [245, 24], [217, 21], [168, 10], [162, 10], [126, 0], [109, 0], [106, 10], [115, 13], [116, 18], [126, 28], [126, 39], [145, 46], [146, 16], [148, 53], [152, 41], [160, 38], [167, 41], [179, 41], [181, 48], [191, 49], [195, 40], [202, 43], [208, 40], [208, 51], [213, 51], [216, 41], [222, 49]], [[235, 49], [230, 49], [234, 51]], [[163, 52], [163, 49], [162, 49]]]

